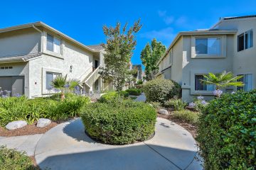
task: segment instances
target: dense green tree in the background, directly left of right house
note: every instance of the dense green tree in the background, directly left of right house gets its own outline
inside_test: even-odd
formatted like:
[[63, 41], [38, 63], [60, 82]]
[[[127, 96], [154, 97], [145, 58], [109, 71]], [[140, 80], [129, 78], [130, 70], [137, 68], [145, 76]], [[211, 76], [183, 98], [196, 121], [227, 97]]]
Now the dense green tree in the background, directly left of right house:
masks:
[[151, 45], [149, 45], [148, 42], [142, 50], [141, 60], [142, 64], [145, 66], [145, 74], [147, 80], [154, 79], [154, 74], [156, 74], [159, 69], [157, 62], [161, 56], [164, 55], [165, 51], [166, 47], [161, 42], [157, 42], [156, 38], [151, 41]]

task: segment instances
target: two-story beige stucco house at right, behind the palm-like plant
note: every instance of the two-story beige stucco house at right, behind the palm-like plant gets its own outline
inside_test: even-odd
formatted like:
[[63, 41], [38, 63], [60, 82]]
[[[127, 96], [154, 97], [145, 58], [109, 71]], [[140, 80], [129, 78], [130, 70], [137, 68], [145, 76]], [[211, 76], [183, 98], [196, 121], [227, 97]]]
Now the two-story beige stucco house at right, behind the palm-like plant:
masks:
[[210, 29], [180, 32], [159, 60], [156, 77], [181, 84], [188, 102], [198, 95], [213, 97], [214, 86], [200, 81], [209, 72], [244, 75], [242, 89], [256, 89], [255, 31], [256, 16], [240, 16], [221, 18]]

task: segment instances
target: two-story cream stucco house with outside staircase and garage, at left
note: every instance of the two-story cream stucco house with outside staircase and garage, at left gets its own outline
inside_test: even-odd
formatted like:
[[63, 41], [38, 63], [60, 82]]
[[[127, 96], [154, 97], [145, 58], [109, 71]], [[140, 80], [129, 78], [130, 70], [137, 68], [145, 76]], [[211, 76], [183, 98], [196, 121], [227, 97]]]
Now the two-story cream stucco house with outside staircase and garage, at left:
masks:
[[62, 74], [79, 79], [85, 91], [112, 88], [98, 74], [102, 45], [86, 46], [42, 22], [0, 29], [0, 87], [29, 98], [52, 94]]

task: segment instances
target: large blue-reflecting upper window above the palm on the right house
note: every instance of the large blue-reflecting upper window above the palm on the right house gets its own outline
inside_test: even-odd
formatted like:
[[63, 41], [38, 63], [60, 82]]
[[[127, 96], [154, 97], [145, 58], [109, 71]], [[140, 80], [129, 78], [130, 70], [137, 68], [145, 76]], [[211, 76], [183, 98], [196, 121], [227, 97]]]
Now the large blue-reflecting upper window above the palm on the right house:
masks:
[[220, 38], [196, 38], [196, 54], [220, 55]]

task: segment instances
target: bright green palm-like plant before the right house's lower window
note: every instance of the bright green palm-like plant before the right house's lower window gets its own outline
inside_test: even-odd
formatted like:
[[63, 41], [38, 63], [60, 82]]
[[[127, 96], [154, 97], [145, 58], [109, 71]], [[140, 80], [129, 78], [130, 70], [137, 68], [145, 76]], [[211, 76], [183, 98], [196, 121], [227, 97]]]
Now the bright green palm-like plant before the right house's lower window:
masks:
[[205, 79], [201, 79], [203, 84], [213, 84], [216, 86], [216, 90], [226, 86], [244, 86], [242, 81], [238, 81], [242, 76], [235, 77], [232, 72], [222, 72], [220, 74], [209, 73], [203, 76]]

